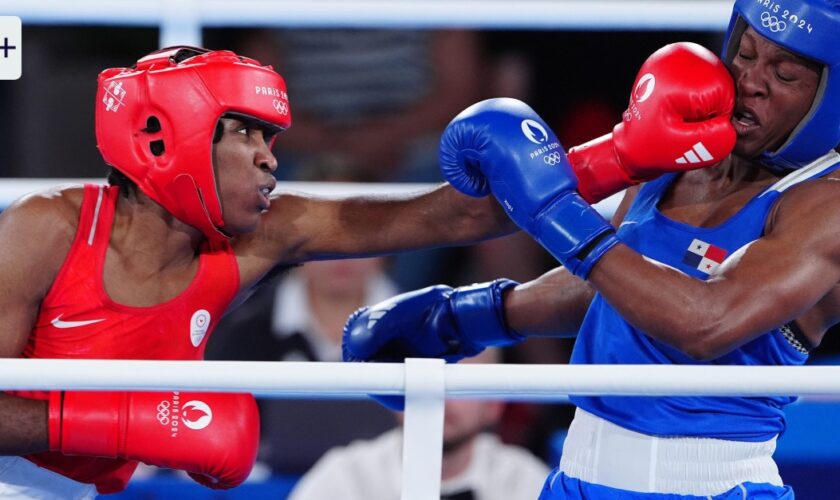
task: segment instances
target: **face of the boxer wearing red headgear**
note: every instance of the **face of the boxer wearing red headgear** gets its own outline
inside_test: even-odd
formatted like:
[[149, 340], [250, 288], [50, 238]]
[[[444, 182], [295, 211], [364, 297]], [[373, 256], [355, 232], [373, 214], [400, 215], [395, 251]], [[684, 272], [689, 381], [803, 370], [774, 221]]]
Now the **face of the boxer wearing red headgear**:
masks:
[[272, 172], [277, 159], [269, 149], [271, 138], [240, 120], [222, 118], [221, 123], [221, 140], [213, 145], [213, 167], [225, 231], [253, 232], [260, 215], [268, 210], [268, 195], [276, 184]]

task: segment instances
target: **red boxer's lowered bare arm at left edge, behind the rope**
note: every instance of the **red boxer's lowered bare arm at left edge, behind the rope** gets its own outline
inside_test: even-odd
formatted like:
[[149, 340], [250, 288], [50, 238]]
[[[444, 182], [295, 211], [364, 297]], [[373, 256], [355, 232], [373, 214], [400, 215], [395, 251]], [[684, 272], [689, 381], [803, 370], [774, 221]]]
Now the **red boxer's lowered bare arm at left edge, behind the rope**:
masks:
[[[34, 195], [0, 214], [0, 357], [18, 357], [26, 345], [73, 239], [70, 205], [58, 194]], [[46, 402], [0, 395], [0, 454], [47, 446]]]

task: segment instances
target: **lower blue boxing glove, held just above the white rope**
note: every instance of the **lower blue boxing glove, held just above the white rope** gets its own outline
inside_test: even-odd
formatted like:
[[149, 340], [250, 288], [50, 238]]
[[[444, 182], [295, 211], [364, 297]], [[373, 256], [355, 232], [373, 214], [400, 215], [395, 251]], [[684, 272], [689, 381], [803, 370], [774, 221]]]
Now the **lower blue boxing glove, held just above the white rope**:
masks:
[[[506, 279], [461, 288], [437, 285], [363, 307], [344, 326], [344, 361], [456, 362], [485, 347], [516, 343], [524, 337], [505, 324], [502, 301], [504, 291], [516, 285]], [[402, 396], [374, 398], [396, 410], [404, 403]]]

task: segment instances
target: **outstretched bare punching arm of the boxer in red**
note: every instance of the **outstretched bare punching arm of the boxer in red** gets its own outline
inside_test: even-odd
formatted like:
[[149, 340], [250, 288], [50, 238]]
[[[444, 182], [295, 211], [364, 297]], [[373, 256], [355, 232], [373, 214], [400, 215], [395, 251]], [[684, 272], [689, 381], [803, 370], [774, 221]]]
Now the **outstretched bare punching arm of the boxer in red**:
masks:
[[515, 229], [495, 199], [449, 185], [376, 197], [281, 194], [262, 226], [234, 245], [248, 286], [277, 264], [464, 245]]

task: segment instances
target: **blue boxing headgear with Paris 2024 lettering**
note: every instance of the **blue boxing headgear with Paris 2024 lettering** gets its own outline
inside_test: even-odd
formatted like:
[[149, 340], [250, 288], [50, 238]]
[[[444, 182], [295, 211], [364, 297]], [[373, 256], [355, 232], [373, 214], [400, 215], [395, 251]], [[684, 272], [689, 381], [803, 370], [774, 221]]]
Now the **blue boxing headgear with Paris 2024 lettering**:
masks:
[[840, 144], [840, 1], [736, 0], [723, 42], [724, 61], [735, 58], [747, 25], [771, 42], [823, 65], [808, 114], [779, 149], [762, 154], [762, 161], [774, 167], [803, 167]]

